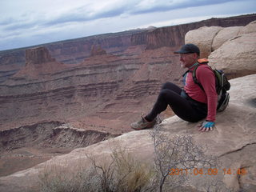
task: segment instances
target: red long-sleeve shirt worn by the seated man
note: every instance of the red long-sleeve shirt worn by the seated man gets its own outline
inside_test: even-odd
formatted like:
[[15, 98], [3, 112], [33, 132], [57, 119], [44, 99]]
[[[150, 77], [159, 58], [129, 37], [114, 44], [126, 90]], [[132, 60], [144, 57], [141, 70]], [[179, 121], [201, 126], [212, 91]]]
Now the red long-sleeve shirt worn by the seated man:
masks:
[[[192, 67], [190, 71], [193, 71], [194, 68], [195, 66]], [[186, 75], [186, 85], [184, 86], [184, 90], [190, 98], [193, 98], [198, 102], [207, 103], [208, 111], [206, 120], [214, 122], [218, 100], [218, 94], [215, 89], [214, 72], [210, 69], [210, 66], [202, 64], [198, 66], [198, 69], [196, 70], [196, 78], [198, 79], [198, 82], [201, 83], [204, 91], [200, 86], [194, 83], [192, 73], [187, 73]]]

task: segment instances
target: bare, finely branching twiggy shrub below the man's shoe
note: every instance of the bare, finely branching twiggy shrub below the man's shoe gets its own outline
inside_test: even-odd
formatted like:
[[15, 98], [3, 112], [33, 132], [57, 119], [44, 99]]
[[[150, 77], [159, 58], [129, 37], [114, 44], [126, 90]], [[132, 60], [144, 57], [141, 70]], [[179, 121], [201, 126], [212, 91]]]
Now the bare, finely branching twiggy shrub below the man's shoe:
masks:
[[191, 170], [196, 167], [217, 167], [218, 158], [206, 155], [206, 146], [195, 145], [191, 135], [170, 137], [161, 129], [161, 126], [156, 125], [150, 132], [154, 142], [154, 165], [158, 191], [182, 191], [181, 186], [189, 186], [189, 178], [186, 174], [170, 175], [171, 169]]

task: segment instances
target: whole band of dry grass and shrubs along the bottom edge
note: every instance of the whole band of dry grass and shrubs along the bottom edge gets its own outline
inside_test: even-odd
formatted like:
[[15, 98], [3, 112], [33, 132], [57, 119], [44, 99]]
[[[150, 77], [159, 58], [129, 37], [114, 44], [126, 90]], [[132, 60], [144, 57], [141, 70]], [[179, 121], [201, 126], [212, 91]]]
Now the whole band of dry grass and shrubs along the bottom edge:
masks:
[[[190, 175], [185, 174], [185, 170], [219, 166], [218, 158], [206, 155], [206, 146], [195, 145], [191, 135], [170, 137], [157, 125], [150, 136], [154, 142], [154, 163], [138, 161], [126, 147], [110, 144], [110, 157], [103, 161], [86, 154], [90, 166], [82, 160], [72, 169], [70, 166], [46, 166], [39, 177], [40, 191], [198, 191], [189, 185]], [[198, 187], [209, 192], [232, 191], [222, 181], [212, 178]]]

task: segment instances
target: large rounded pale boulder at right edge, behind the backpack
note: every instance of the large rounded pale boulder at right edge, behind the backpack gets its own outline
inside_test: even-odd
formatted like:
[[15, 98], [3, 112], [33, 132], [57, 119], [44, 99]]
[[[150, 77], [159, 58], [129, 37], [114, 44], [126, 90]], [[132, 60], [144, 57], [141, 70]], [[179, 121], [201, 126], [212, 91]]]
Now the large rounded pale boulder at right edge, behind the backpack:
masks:
[[209, 61], [210, 66], [224, 70], [232, 78], [255, 74], [256, 33], [231, 38], [210, 54]]

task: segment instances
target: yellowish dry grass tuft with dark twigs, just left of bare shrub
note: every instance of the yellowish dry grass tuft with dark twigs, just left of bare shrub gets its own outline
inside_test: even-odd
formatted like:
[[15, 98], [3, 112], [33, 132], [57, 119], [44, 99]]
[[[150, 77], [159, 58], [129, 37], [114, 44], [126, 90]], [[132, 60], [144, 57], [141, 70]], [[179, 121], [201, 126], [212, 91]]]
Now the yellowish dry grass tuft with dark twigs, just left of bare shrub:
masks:
[[100, 178], [100, 191], [150, 191], [152, 169], [146, 163], [135, 160], [125, 148], [118, 147], [112, 150], [108, 166], [98, 165], [94, 158], [89, 158], [93, 162], [96, 175]]

